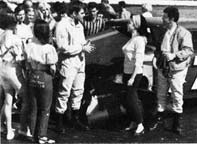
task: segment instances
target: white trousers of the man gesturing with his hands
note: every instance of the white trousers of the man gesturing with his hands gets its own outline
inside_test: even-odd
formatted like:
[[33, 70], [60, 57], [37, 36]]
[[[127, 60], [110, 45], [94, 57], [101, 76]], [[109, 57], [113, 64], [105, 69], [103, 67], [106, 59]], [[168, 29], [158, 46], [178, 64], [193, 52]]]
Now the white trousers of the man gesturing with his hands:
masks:
[[64, 76], [59, 82], [58, 97], [56, 101], [56, 112], [63, 114], [67, 110], [70, 98], [73, 110], [79, 110], [84, 92], [85, 72], [84, 66], [81, 68], [64, 67]]

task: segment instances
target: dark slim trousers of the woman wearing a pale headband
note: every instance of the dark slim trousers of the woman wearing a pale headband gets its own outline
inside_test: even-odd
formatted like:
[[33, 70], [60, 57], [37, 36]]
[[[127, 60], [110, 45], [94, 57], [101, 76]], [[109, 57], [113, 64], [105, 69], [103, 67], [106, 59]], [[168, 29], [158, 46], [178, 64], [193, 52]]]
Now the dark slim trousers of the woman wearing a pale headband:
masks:
[[127, 112], [132, 121], [135, 121], [137, 124], [143, 122], [142, 111], [139, 105], [139, 98], [138, 98], [138, 88], [140, 81], [142, 79], [142, 74], [137, 74], [132, 86], [127, 86], [128, 80], [131, 78], [130, 74], [123, 75], [123, 83], [127, 88]]

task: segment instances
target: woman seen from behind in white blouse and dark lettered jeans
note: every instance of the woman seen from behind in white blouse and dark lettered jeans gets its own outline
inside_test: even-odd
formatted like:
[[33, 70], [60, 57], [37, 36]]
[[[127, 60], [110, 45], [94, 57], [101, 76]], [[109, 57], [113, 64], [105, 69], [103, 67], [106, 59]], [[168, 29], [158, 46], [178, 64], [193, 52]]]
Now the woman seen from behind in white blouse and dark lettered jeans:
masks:
[[30, 130], [36, 142], [55, 143], [47, 138], [47, 128], [53, 96], [52, 79], [58, 56], [49, 44], [50, 28], [44, 20], [36, 20], [34, 39], [25, 48], [27, 61], [28, 99], [31, 108]]

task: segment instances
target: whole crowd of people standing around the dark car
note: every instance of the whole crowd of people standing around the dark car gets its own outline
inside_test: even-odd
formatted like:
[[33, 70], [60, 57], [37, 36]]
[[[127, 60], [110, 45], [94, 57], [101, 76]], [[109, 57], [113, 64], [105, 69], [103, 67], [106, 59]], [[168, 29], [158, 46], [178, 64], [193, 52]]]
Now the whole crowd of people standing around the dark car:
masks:
[[[143, 75], [145, 47], [150, 34], [145, 17], [152, 16], [147, 12], [152, 8], [144, 5], [143, 14], [132, 15], [125, 9], [124, 1], [119, 3], [120, 13], [113, 9], [108, 0], [102, 0], [99, 6], [95, 2], [85, 5], [78, 0], [71, 1], [69, 5], [58, 5], [58, 11], [52, 14], [49, 4], [40, 2], [35, 8], [31, 0], [25, 0], [13, 13], [5, 12], [6, 19], [1, 24], [4, 30], [0, 31], [0, 81], [1, 98], [4, 98], [1, 121], [6, 124], [7, 140], [12, 140], [15, 135], [11, 120], [13, 99], [21, 97], [21, 127], [18, 133], [33, 137], [38, 143], [55, 143], [47, 137], [54, 76], [58, 76], [58, 94], [55, 98], [57, 129], [65, 132], [63, 120], [68, 107], [72, 109], [73, 125], [89, 129], [87, 123], [82, 121], [80, 108], [84, 94], [85, 53], [94, 51], [95, 46], [86, 40], [86, 36], [103, 31], [106, 21], [115, 18], [128, 19], [127, 30], [131, 33], [130, 40], [122, 47], [125, 56], [123, 83], [127, 89], [126, 109], [131, 118], [125, 130], [134, 129], [136, 136], [144, 133], [137, 90]], [[155, 54], [158, 112], [152, 129], [165, 117], [164, 111], [170, 109], [173, 111], [173, 131], [181, 133], [183, 84], [193, 54], [192, 36], [178, 25], [177, 8], [167, 7], [163, 12], [166, 33]], [[163, 63], [167, 63], [167, 67]], [[170, 106], [166, 103], [169, 88], [173, 99]]]

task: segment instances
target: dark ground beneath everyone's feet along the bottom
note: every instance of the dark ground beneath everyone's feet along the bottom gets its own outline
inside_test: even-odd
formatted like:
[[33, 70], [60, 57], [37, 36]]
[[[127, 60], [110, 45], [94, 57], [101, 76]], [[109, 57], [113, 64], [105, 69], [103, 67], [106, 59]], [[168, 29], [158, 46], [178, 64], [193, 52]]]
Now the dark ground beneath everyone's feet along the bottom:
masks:
[[[50, 120], [48, 135], [58, 143], [197, 143], [197, 99], [186, 100], [183, 114], [183, 136], [178, 136], [169, 130], [160, 127], [154, 131], [145, 131], [140, 137], [132, 136], [131, 132], [123, 131], [122, 123], [113, 120], [109, 124], [106, 120], [100, 121], [101, 126], [90, 131], [79, 131], [67, 128], [66, 134], [61, 135], [55, 131], [55, 121]], [[18, 116], [14, 116], [14, 127], [19, 126]], [[169, 121], [169, 120], [168, 120]], [[109, 126], [111, 125], [111, 126]], [[112, 127], [114, 125], [114, 127]], [[1, 135], [1, 143], [8, 143], [5, 134]], [[32, 143], [16, 135], [9, 143]]]

